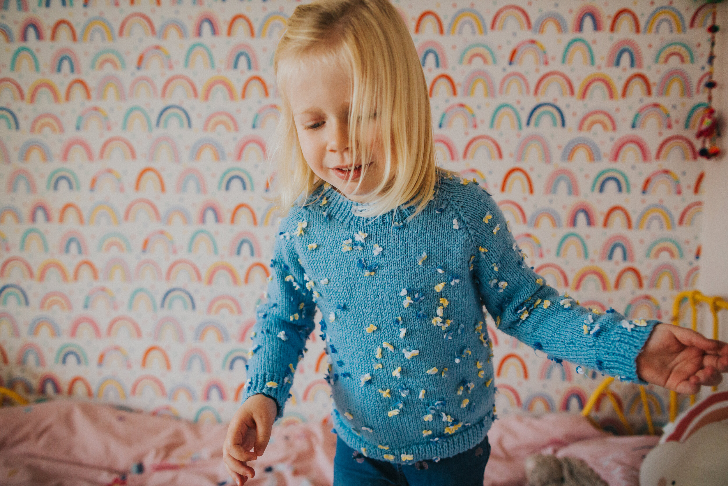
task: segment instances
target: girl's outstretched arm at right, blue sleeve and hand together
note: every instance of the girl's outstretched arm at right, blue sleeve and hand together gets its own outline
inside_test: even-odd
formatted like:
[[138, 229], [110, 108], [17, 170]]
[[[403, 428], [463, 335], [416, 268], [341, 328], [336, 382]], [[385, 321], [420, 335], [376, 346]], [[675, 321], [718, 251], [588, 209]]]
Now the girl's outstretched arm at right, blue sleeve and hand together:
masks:
[[717, 385], [728, 371], [728, 344], [671, 324], [598, 313], [559, 295], [524, 262], [494, 200], [468, 184], [454, 197], [477, 256], [472, 271], [496, 326], [549, 358], [567, 359], [622, 380], [654, 383], [679, 393]]

